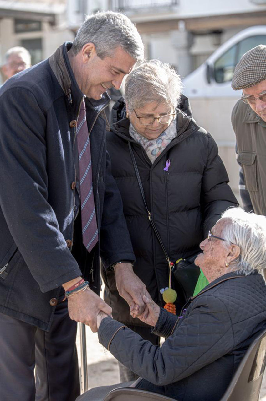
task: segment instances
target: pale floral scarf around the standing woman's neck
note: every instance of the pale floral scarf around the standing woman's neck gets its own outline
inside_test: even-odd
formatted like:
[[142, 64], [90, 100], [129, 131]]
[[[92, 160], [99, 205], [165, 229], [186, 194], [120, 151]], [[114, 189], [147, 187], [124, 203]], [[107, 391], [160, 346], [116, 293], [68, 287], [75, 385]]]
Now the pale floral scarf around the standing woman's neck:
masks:
[[139, 134], [132, 124], [129, 126], [129, 135], [141, 144], [148, 158], [154, 163], [155, 159], [163, 152], [167, 145], [177, 136], [177, 120], [173, 119], [169, 127], [156, 139], [148, 139]]

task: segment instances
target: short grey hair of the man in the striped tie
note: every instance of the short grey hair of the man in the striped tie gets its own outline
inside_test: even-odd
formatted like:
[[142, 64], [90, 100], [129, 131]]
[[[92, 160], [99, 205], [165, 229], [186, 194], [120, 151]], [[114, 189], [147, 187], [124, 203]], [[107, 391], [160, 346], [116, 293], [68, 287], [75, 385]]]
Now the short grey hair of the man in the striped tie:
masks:
[[111, 57], [121, 47], [134, 60], [143, 61], [144, 46], [135, 25], [118, 12], [96, 12], [86, 17], [77, 31], [71, 52], [77, 55], [86, 43], [95, 45], [97, 56]]

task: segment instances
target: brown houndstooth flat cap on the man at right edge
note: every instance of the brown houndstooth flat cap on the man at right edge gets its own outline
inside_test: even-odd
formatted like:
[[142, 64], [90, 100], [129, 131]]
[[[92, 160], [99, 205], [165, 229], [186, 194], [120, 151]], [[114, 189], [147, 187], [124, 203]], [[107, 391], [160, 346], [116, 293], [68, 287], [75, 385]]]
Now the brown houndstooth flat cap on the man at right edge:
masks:
[[246, 52], [236, 65], [232, 78], [235, 91], [250, 88], [266, 79], [266, 46], [258, 45]]

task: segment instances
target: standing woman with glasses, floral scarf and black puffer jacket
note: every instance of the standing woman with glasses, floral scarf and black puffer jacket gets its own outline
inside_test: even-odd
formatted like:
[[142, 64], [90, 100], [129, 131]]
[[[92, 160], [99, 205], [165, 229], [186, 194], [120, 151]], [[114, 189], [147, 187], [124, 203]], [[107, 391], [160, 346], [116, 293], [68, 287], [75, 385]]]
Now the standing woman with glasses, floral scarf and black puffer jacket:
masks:
[[[112, 174], [135, 251], [134, 272], [161, 306], [169, 286], [163, 247], [172, 262], [193, 257], [221, 213], [237, 204], [216, 143], [184, 112], [189, 113], [189, 103], [181, 90], [181, 79], [168, 64], [143, 63], [128, 75], [124, 99], [115, 104], [115, 123], [107, 133]], [[131, 317], [115, 287], [114, 272], [102, 273], [104, 299], [113, 308], [113, 317], [159, 344], [159, 337], [145, 323]], [[179, 313], [186, 300], [177, 282], [175, 290]], [[121, 381], [135, 377], [121, 365], [120, 375]]]

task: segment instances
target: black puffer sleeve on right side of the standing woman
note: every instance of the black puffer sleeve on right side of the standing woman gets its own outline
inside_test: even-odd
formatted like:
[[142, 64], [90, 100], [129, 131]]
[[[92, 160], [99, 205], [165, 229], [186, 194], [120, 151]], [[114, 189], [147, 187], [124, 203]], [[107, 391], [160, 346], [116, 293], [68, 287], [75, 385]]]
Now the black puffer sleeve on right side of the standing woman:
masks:
[[228, 185], [229, 178], [224, 164], [218, 156], [218, 147], [208, 133], [208, 157], [202, 177], [201, 205], [204, 213], [204, 237], [220, 219], [228, 207], [238, 206], [238, 202]]

